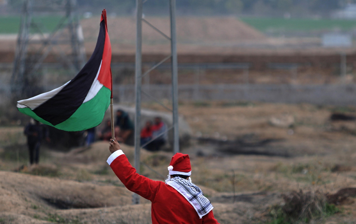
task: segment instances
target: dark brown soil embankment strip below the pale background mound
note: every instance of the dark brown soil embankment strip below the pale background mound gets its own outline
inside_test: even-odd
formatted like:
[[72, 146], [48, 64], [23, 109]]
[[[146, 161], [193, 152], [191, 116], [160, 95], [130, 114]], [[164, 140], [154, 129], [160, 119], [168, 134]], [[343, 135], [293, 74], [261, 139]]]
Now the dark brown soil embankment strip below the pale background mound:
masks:
[[[0, 63], [12, 63], [14, 61], [13, 51], [1, 51]], [[91, 54], [87, 55], [90, 58]], [[346, 63], [348, 66], [356, 66], [356, 53], [349, 52], [345, 54]], [[144, 53], [142, 55], [143, 63], [158, 63], [166, 54], [161, 53]], [[178, 54], [178, 63], [248, 63], [249, 68], [253, 70], [263, 70], [271, 68], [271, 64], [278, 63], [281, 66], [285, 64], [287, 67], [291, 64], [298, 68], [315, 68], [326, 69], [338, 66], [341, 62], [341, 55], [333, 52], [275, 52], [273, 50], [263, 53], [248, 53], [248, 50], [236, 52], [235, 54], [224, 53], [181, 53]], [[44, 60], [44, 63], [58, 63], [58, 57], [54, 54], [49, 54]], [[135, 54], [112, 54], [112, 65], [117, 63], [135, 63]], [[166, 61], [169, 63], [169, 60]]]

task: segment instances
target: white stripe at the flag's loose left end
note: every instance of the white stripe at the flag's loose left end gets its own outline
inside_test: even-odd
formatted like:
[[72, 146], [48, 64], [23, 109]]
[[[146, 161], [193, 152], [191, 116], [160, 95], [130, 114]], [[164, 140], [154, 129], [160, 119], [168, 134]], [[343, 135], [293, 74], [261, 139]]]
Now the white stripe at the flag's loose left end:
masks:
[[64, 84], [61, 87], [58, 87], [57, 89], [51, 90], [49, 92], [45, 92], [43, 94], [28, 98], [26, 100], [20, 100], [17, 101], [17, 107], [18, 108], [26, 108], [29, 107], [31, 110], [35, 110], [36, 107], [40, 106], [42, 103], [46, 102], [50, 98], [52, 98], [54, 95], [56, 95], [59, 91], [61, 91], [64, 86], [66, 86], [70, 81], [68, 81], [66, 84]]

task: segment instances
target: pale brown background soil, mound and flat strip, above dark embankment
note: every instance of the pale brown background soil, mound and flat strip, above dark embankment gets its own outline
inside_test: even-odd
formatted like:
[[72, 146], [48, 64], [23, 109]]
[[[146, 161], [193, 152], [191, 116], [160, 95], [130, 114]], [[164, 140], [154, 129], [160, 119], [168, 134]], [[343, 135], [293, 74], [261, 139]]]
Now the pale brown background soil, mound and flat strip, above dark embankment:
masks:
[[[152, 25], [170, 36], [168, 17], [145, 17]], [[93, 52], [98, 37], [99, 19], [97, 17], [81, 20], [85, 49]], [[136, 23], [134, 17], [109, 17], [108, 31], [113, 54], [134, 54]], [[66, 33], [60, 31], [59, 33]], [[144, 54], [168, 54], [170, 45], [162, 36], [143, 22]], [[224, 55], [265, 55], [300, 54], [312, 55], [330, 53], [352, 53], [354, 48], [323, 49], [320, 38], [268, 38], [255, 28], [248, 26], [236, 17], [178, 17], [177, 50], [178, 54], [224, 54]], [[293, 47], [294, 46], [294, 47]], [[299, 46], [299, 48], [295, 48]], [[0, 36], [0, 61], [14, 57], [16, 35]]]

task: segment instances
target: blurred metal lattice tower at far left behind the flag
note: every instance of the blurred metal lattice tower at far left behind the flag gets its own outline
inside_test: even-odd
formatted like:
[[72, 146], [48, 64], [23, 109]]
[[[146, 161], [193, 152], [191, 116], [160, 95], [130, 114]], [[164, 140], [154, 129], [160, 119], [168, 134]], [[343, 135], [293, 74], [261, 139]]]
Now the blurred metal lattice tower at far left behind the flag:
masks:
[[[48, 30], [38, 16], [60, 17], [53, 30]], [[56, 62], [75, 72], [86, 61], [84, 38], [79, 24], [76, 0], [25, 0], [17, 38], [11, 91], [15, 96], [33, 95], [36, 85], [31, 80], [53, 53]]]

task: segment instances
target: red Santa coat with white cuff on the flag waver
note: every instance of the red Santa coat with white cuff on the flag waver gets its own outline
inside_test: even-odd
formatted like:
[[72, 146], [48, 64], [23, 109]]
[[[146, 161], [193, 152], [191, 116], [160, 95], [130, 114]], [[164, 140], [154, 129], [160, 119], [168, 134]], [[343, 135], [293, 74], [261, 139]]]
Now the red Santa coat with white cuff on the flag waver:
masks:
[[112, 153], [107, 162], [127, 189], [152, 202], [152, 224], [219, 224], [210, 210], [212, 206], [200, 218], [192, 203], [172, 186], [137, 174], [122, 150]]

